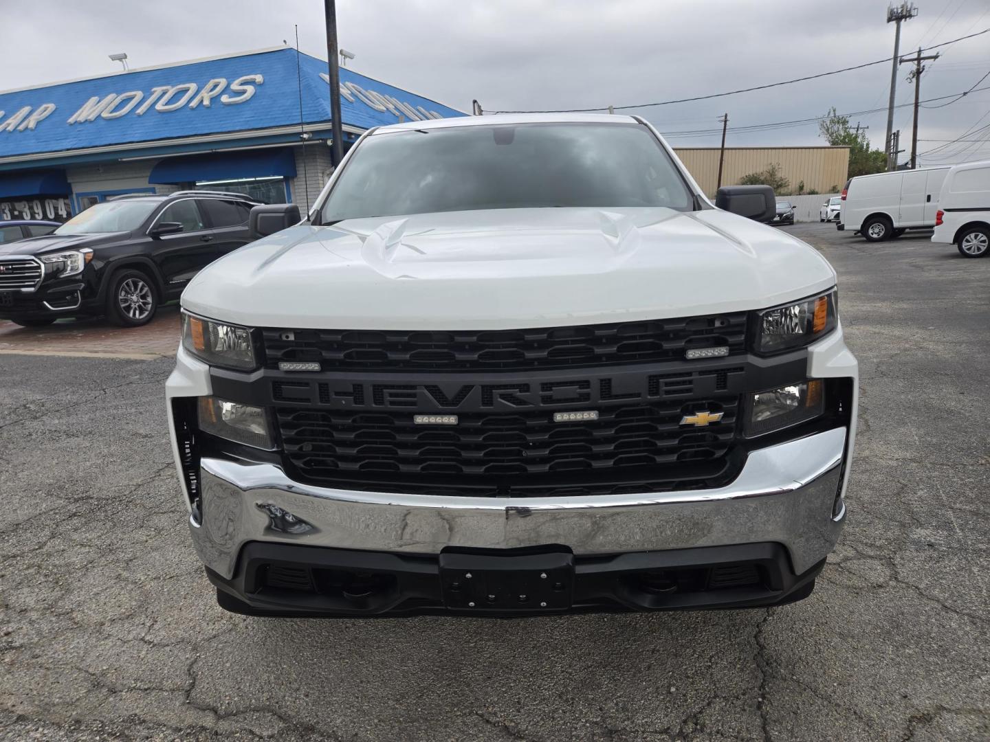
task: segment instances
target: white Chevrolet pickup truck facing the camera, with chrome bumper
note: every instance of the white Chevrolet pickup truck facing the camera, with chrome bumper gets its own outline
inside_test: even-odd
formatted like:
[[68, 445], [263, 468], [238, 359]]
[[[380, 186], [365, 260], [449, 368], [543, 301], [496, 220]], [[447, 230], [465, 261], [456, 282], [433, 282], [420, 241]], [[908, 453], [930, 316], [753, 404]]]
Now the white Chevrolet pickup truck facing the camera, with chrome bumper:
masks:
[[[193, 542], [251, 615], [790, 603], [845, 518], [836, 273], [624, 116], [366, 132], [182, 295]], [[769, 189], [764, 189], [768, 191]], [[737, 212], [737, 213], [730, 213]], [[287, 228], [287, 229], [286, 229]]]

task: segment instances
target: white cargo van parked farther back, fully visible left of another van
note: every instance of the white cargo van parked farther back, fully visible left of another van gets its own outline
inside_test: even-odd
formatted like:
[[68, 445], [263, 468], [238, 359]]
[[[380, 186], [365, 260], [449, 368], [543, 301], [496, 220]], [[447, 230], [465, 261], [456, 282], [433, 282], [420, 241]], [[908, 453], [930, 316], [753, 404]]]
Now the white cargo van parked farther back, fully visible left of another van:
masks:
[[837, 229], [879, 242], [899, 237], [905, 230], [935, 227], [939, 192], [947, 172], [946, 165], [850, 178], [842, 189]]

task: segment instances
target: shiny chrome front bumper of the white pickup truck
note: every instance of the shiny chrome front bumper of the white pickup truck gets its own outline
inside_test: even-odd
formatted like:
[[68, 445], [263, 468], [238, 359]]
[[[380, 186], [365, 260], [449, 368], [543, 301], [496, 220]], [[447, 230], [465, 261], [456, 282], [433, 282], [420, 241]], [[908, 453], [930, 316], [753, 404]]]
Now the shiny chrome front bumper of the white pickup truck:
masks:
[[801, 574], [839, 538], [846, 435], [839, 427], [755, 451], [720, 489], [571, 499], [335, 490], [293, 482], [270, 464], [206, 458], [202, 519], [194, 514], [190, 525], [200, 558], [227, 579], [249, 541], [415, 554], [558, 544], [575, 555], [776, 542]]

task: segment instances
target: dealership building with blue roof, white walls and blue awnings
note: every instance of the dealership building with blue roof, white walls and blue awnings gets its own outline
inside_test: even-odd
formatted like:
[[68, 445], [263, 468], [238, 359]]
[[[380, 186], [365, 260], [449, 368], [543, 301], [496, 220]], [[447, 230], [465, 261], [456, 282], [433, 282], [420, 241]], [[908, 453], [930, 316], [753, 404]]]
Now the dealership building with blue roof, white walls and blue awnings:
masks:
[[[341, 69], [344, 147], [464, 114]], [[312, 204], [331, 171], [327, 62], [281, 46], [0, 93], [0, 221], [63, 222], [124, 193]]]

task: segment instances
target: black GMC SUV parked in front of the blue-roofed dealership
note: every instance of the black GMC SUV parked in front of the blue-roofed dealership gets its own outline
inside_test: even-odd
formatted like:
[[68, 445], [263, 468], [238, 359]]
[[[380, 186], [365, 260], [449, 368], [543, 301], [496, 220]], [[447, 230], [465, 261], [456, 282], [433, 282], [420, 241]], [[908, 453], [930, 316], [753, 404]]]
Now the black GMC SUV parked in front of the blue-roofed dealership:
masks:
[[50, 234], [0, 244], [0, 319], [39, 326], [105, 315], [145, 325], [200, 269], [250, 241], [256, 205], [219, 191], [134, 194], [95, 204]]

